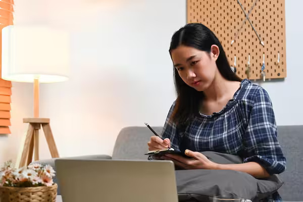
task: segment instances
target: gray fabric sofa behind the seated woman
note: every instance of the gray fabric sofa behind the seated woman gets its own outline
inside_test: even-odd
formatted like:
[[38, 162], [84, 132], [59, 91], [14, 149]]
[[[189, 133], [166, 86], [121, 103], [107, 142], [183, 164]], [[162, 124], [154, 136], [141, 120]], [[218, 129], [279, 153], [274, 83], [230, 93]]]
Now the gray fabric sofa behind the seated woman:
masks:
[[[162, 127], [154, 127], [161, 132]], [[147, 141], [153, 133], [147, 127], [123, 128], [116, 140], [112, 156], [94, 155], [73, 157], [73, 159], [143, 159], [148, 150]], [[278, 139], [287, 159], [287, 169], [281, 174], [285, 184], [279, 189], [283, 201], [303, 202], [303, 126], [278, 126]], [[70, 158], [69, 158], [70, 159]], [[43, 160], [40, 163], [50, 164], [55, 168], [55, 159]], [[57, 179], [54, 179], [57, 182]], [[58, 187], [58, 194], [60, 188]]]

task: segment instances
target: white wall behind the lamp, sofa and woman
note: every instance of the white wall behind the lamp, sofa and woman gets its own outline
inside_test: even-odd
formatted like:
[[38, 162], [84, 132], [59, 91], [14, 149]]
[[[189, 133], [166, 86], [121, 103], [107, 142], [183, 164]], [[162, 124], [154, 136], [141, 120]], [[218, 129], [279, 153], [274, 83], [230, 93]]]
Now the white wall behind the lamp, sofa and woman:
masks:
[[[49, 2], [58, 0], [40, 5], [44, 12], [39, 12], [43, 16], [36, 23], [51, 23], [71, 33], [70, 80], [42, 84], [40, 88], [40, 116], [51, 118], [60, 155], [111, 155], [122, 127], [144, 126], [144, 122], [163, 125], [175, 98], [168, 54], [170, 37], [186, 23], [186, 1], [65, 0], [56, 8]], [[15, 3], [19, 16], [25, 15], [24, 1]], [[286, 1], [287, 78], [262, 84], [272, 98], [278, 125], [303, 124], [303, 110], [297, 107], [303, 96], [299, 93], [303, 28], [297, 26], [295, 15], [302, 6], [299, 0]], [[27, 23], [37, 19], [37, 15], [19, 18], [18, 22]], [[16, 94], [24, 90], [32, 95], [30, 87], [18, 85], [13, 96], [21, 97]], [[31, 107], [24, 103], [16, 111], [28, 106]], [[32, 107], [13, 120], [31, 116], [31, 110]], [[10, 158], [15, 158], [22, 127], [13, 123], [14, 139], [0, 138], [2, 144], [14, 147]], [[0, 152], [8, 153], [3, 147]], [[40, 156], [50, 157], [42, 136]], [[0, 156], [0, 162], [4, 159]]]

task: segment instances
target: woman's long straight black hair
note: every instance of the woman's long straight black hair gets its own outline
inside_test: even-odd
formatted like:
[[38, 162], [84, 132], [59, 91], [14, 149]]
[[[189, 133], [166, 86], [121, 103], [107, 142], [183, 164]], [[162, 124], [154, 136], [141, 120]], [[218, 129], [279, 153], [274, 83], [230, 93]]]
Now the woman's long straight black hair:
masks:
[[[219, 47], [220, 54], [216, 64], [220, 74], [230, 81], [241, 81], [230, 68], [223, 47], [216, 35], [205, 25], [199, 23], [187, 24], [176, 31], [171, 39], [169, 53], [179, 45], [185, 45], [211, 53], [211, 46]], [[199, 105], [203, 99], [203, 92], [199, 92], [188, 86], [179, 76], [178, 70], [174, 68], [174, 81], [177, 91], [177, 100], [171, 116], [171, 121], [178, 125], [185, 125], [199, 113]]]

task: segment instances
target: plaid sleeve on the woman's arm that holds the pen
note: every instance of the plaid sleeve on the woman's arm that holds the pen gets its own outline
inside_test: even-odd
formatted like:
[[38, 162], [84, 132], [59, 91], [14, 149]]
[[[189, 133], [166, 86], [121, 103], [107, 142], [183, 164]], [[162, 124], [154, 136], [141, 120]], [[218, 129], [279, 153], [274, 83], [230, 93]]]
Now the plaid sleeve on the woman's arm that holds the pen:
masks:
[[173, 105], [171, 106], [169, 113], [167, 115], [162, 133], [161, 133], [161, 138], [165, 139], [165, 138], [169, 138], [171, 141], [171, 147], [174, 148], [175, 150], [180, 151], [179, 149], [179, 141], [180, 141], [180, 137], [182, 136], [182, 134], [179, 134], [179, 131], [177, 129], [177, 126], [175, 123], [173, 123], [172, 121], [170, 121], [170, 117], [174, 111], [175, 108], [175, 102], [173, 103]]

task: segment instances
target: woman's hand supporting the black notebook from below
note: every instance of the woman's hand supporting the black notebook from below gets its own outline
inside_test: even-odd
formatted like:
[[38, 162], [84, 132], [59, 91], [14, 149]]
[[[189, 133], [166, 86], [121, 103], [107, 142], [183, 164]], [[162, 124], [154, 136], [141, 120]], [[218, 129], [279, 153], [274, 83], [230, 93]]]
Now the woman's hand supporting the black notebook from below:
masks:
[[192, 158], [185, 158], [179, 155], [166, 154], [162, 159], [171, 160], [178, 167], [183, 169], [211, 169], [215, 170], [217, 165], [215, 162], [210, 161], [206, 156], [189, 149], [185, 150], [185, 155]]

